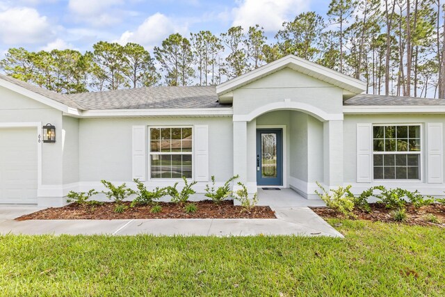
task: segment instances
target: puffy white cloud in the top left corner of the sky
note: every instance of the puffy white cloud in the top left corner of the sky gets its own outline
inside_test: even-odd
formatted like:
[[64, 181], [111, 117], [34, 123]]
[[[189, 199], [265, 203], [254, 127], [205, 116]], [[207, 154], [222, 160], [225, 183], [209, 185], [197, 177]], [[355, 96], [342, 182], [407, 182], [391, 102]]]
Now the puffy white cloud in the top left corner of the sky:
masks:
[[3, 10], [0, 24], [0, 42], [7, 45], [42, 43], [54, 35], [47, 17], [34, 8]]

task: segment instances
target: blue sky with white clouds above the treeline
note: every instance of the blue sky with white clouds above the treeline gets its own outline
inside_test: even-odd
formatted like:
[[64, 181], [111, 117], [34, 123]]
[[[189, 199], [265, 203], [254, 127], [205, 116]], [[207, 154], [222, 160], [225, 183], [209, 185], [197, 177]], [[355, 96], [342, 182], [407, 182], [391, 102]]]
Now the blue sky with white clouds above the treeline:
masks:
[[329, 0], [0, 0], [0, 54], [92, 49], [101, 40], [136, 42], [152, 51], [171, 33], [219, 35], [259, 24], [269, 40], [299, 13], [327, 12]]

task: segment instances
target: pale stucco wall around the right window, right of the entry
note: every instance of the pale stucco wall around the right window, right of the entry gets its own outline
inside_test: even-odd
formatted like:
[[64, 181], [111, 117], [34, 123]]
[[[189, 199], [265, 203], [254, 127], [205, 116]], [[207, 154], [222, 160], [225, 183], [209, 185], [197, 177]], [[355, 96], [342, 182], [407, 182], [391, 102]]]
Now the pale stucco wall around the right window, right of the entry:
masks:
[[[442, 122], [445, 126], [445, 118], [443, 115], [345, 115], [343, 121], [344, 183], [353, 184], [353, 189], [355, 188], [357, 191], [358, 189], [362, 190], [362, 188], [366, 188], [375, 184], [386, 184], [389, 187], [401, 186], [408, 189], [419, 188], [420, 190], [423, 189], [423, 193], [428, 193], [428, 191], [433, 191], [435, 188], [440, 188], [441, 190], [439, 192], [442, 193], [444, 184], [426, 183], [426, 166], [428, 166], [428, 164], [426, 163], [426, 123], [428, 122]], [[356, 183], [357, 123], [421, 124], [421, 181], [394, 182], [388, 180], [373, 183]], [[430, 193], [434, 194], [432, 192]]]

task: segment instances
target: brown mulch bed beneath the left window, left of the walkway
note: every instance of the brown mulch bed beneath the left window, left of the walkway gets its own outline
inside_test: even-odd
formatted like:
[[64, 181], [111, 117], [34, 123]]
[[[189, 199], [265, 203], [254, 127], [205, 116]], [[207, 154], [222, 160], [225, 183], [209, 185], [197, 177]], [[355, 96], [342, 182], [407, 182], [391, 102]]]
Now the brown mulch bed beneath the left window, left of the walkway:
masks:
[[16, 220], [113, 220], [127, 218], [275, 218], [275, 212], [270, 207], [253, 207], [250, 211], [235, 206], [232, 200], [215, 204], [211, 200], [191, 202], [197, 206], [193, 214], [186, 214], [184, 205], [172, 202], [159, 202], [162, 211], [157, 214], [150, 212], [151, 206], [129, 207], [130, 202], [124, 202], [128, 208], [122, 214], [114, 211], [114, 202], [105, 202], [97, 206], [81, 206], [76, 203], [65, 207], [51, 207], [26, 214]]

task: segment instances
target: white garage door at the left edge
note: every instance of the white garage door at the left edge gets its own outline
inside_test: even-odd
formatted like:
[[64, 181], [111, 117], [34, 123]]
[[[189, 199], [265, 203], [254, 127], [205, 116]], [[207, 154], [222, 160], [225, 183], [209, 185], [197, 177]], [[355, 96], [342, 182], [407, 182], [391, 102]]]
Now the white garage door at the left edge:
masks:
[[35, 128], [0, 128], [0, 204], [37, 203]]

